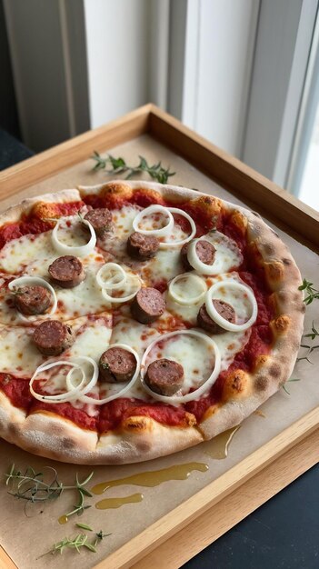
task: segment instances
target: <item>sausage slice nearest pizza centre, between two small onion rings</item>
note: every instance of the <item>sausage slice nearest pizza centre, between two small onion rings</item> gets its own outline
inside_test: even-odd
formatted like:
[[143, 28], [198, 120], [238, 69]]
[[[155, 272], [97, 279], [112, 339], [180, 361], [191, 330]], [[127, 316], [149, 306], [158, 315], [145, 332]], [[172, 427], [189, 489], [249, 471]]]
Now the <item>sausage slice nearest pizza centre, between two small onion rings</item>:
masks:
[[146, 286], [135, 295], [131, 304], [131, 313], [138, 322], [149, 324], [162, 316], [165, 307], [162, 294], [156, 288]]

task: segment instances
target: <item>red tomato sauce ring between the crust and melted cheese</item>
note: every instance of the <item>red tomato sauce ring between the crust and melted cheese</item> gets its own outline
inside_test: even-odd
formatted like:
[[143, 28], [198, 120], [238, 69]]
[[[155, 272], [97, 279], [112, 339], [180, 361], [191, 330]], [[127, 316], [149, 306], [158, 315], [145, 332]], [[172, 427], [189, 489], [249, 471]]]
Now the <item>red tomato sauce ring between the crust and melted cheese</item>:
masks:
[[[179, 407], [167, 404], [145, 404], [139, 399], [119, 398], [100, 409], [99, 417], [90, 417], [85, 413], [84, 409], [76, 409], [72, 404], [47, 404], [35, 400], [28, 387], [28, 380], [18, 379], [9, 374], [0, 374], [0, 389], [10, 398], [15, 406], [29, 409], [29, 412], [48, 411], [59, 414], [66, 419], [70, 419], [86, 429], [98, 429], [105, 433], [108, 430], [116, 429], [120, 423], [131, 416], [141, 415], [149, 416], [162, 424], [172, 426], [187, 424], [186, 413], [195, 415], [197, 421], [200, 421], [207, 408], [218, 403], [223, 394], [224, 381], [229, 373], [235, 369], [241, 368], [244, 371], [251, 372], [254, 370], [256, 358], [261, 354], [269, 354], [273, 342], [273, 336], [270, 330], [269, 322], [273, 317], [271, 306], [268, 302], [270, 291], [267, 288], [263, 267], [256, 262], [256, 257], [248, 252], [246, 247], [246, 238], [237, 225], [232, 223], [231, 215], [222, 212], [218, 219], [214, 220], [212, 215], [203, 207], [192, 202], [178, 203], [164, 201], [163, 197], [153, 191], [144, 189], [135, 190], [135, 193], [129, 199], [121, 196], [111, 195], [87, 195], [84, 197], [86, 205], [92, 207], [108, 207], [111, 210], [120, 209], [123, 205], [134, 204], [140, 207], [148, 205], [161, 204], [167, 206], [178, 207], [187, 214], [191, 215], [196, 225], [196, 236], [201, 236], [217, 228], [224, 235], [232, 238], [244, 255], [243, 265], [238, 273], [242, 280], [251, 286], [254, 290], [255, 298], [258, 304], [258, 317], [252, 327], [252, 332], [248, 343], [244, 350], [236, 354], [233, 364], [227, 370], [222, 372], [217, 378], [215, 384], [211, 388], [207, 397], [199, 401], [192, 401]], [[75, 202], [73, 204], [56, 205], [56, 215], [72, 215], [83, 205], [83, 202]], [[177, 223], [187, 231], [189, 224], [182, 216], [176, 216]], [[52, 224], [47, 221], [36, 218], [35, 216], [27, 216], [24, 220], [16, 224], [6, 224], [0, 228], [0, 248], [8, 241], [20, 237], [21, 235], [45, 232], [52, 228]], [[164, 291], [166, 282], [158, 281], [155, 287], [160, 291]], [[114, 324], [116, 321], [116, 313], [114, 314]], [[184, 327], [182, 323], [182, 327]], [[31, 405], [31, 407], [30, 407]]]

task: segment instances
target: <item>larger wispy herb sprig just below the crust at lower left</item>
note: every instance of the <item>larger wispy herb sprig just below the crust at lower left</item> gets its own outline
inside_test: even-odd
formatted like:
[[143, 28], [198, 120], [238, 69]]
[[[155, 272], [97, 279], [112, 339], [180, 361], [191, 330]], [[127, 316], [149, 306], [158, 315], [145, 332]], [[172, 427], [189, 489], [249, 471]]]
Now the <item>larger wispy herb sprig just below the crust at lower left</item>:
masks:
[[74, 514], [82, 514], [86, 508], [91, 507], [85, 505], [85, 496], [92, 497], [92, 494], [85, 488], [93, 476], [93, 472], [89, 474], [82, 482], [79, 480], [78, 475], [75, 475], [75, 485], [66, 486], [58, 480], [58, 475], [52, 466], [45, 466], [46, 471], [53, 473], [53, 479], [45, 481], [45, 474], [42, 472], [35, 472], [34, 468], [27, 466], [25, 472], [20, 472], [15, 469], [15, 464], [12, 464], [9, 472], [5, 474], [5, 484], [8, 486], [12, 484], [12, 494], [15, 498], [26, 500], [26, 503], [35, 504], [36, 502], [47, 502], [48, 500], [55, 500], [63, 492], [67, 490], [76, 490], [78, 493], [78, 503], [75, 504], [72, 512], [65, 514], [66, 517]]

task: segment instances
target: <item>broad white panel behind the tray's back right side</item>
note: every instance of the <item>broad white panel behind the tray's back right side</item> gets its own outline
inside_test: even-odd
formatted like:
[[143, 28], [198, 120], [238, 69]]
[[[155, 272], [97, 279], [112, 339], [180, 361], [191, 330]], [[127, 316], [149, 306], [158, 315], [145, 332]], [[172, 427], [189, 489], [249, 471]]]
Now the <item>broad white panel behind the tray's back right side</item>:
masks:
[[173, 2], [171, 85], [181, 68], [184, 77], [183, 102], [175, 84], [170, 110], [234, 155], [241, 154], [258, 11], [258, 0]]

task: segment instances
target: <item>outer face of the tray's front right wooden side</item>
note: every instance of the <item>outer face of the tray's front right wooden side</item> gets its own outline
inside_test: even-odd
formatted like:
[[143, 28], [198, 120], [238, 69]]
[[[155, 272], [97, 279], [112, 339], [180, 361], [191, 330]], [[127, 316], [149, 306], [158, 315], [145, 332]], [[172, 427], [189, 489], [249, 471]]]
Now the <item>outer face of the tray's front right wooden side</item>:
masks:
[[[318, 463], [319, 429], [156, 547], [131, 569], [177, 569]], [[271, 480], [271, 484], [269, 481]]]

